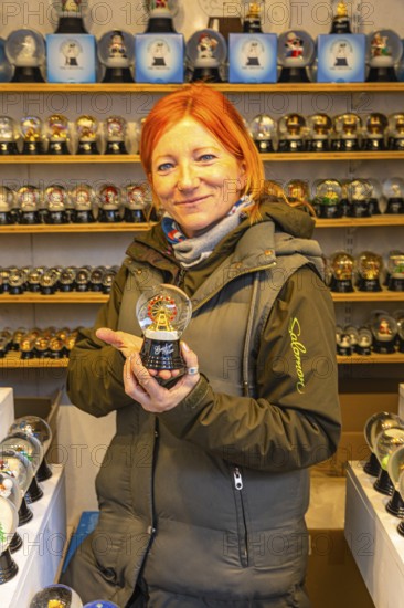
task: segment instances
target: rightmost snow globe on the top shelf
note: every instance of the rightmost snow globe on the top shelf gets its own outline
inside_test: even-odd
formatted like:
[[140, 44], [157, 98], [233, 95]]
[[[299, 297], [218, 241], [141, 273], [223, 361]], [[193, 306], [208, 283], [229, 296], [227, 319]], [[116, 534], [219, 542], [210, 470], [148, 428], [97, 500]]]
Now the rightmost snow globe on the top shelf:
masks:
[[376, 30], [368, 35], [368, 82], [396, 82], [395, 65], [403, 54], [403, 43], [393, 30]]

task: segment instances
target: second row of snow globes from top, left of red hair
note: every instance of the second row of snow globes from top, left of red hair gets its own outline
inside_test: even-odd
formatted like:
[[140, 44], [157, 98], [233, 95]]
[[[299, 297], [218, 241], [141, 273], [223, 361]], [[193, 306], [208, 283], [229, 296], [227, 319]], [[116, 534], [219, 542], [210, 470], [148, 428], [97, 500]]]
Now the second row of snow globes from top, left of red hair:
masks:
[[93, 155], [137, 154], [140, 126], [123, 116], [108, 116], [99, 122], [84, 114], [72, 124], [63, 114], [46, 120], [23, 116], [17, 123], [0, 116], [0, 155]]

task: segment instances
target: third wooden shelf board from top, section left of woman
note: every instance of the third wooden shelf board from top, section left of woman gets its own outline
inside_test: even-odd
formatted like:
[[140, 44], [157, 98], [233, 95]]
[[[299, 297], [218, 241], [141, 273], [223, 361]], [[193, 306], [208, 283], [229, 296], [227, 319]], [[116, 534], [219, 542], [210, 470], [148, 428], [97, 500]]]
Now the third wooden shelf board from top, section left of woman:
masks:
[[153, 226], [153, 222], [148, 223], [40, 223], [40, 224], [10, 224], [0, 226], [0, 234], [43, 234], [47, 232], [85, 232], [91, 234], [92, 232], [142, 232], [149, 230]]

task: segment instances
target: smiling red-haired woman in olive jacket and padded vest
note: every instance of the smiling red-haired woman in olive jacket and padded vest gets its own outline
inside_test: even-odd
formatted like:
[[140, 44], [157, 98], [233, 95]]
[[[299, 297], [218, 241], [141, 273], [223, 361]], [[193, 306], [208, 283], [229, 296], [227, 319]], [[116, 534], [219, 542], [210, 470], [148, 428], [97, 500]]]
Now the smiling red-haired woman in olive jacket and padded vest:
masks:
[[[267, 193], [242, 117], [206, 85], [156, 104], [140, 154], [161, 219], [70, 360], [72, 402], [116, 410], [117, 432], [63, 581], [127, 608], [306, 608], [308, 468], [340, 434], [313, 220]], [[161, 283], [192, 302], [182, 375], [139, 355], [136, 303]]]

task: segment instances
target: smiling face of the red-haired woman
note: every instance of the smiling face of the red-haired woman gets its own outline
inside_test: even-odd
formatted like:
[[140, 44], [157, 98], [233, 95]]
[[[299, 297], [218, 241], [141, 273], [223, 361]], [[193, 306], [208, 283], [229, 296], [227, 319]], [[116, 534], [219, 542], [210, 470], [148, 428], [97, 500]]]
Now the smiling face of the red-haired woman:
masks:
[[185, 117], [159, 139], [151, 181], [163, 209], [187, 237], [217, 223], [240, 199], [245, 164], [193, 118]]

